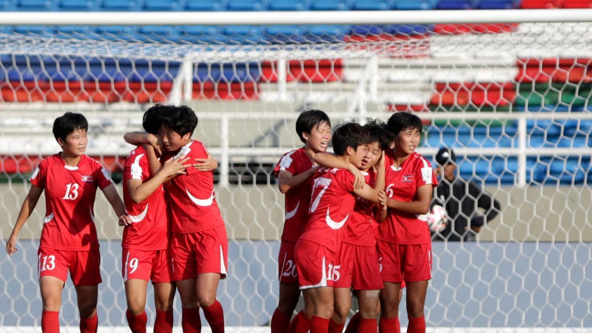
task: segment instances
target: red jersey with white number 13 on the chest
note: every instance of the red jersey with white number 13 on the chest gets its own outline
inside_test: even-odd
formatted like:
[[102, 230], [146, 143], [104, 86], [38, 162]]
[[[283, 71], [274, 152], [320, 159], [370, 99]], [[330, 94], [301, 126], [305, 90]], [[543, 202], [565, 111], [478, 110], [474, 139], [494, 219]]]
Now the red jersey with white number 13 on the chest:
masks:
[[31, 184], [45, 191], [45, 220], [40, 245], [46, 248], [83, 251], [99, 247], [95, 227], [96, 188], [110, 185], [102, 165], [82, 155], [78, 166], [69, 167], [61, 153], [41, 161]]

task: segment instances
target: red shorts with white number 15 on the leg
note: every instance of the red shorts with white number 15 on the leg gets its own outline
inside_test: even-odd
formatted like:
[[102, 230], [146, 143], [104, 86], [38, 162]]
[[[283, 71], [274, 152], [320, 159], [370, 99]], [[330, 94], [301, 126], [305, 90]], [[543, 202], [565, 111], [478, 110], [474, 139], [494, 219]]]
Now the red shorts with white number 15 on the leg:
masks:
[[343, 242], [339, 249], [339, 265], [333, 268], [334, 288], [379, 290], [384, 288], [375, 246]]

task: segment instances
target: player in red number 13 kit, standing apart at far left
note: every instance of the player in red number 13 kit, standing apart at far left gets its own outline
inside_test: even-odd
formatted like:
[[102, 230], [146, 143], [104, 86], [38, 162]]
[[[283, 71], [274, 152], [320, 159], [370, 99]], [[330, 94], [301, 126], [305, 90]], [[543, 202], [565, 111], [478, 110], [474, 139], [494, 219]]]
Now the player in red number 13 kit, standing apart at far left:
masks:
[[130, 223], [107, 170], [84, 155], [87, 130], [88, 122], [79, 113], [67, 112], [54, 121], [53, 135], [62, 152], [41, 161], [33, 172], [31, 188], [6, 246], [9, 255], [17, 251], [18, 233], [45, 191], [46, 217], [37, 252], [43, 300], [41, 330], [44, 333], [60, 331], [58, 315], [68, 271], [76, 288], [80, 331], [96, 332], [96, 300], [101, 283], [99, 241], [93, 212], [97, 187], [119, 216], [120, 225]]

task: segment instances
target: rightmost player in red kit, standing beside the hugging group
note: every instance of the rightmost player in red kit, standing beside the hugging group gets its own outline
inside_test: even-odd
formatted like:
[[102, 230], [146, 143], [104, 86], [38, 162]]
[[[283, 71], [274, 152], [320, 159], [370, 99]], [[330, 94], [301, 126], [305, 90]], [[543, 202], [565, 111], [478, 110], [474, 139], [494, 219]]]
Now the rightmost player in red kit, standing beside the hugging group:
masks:
[[411, 113], [391, 116], [387, 129], [395, 147], [386, 154], [387, 219], [378, 225], [377, 248], [384, 289], [380, 293], [381, 333], [397, 332], [401, 283], [407, 285], [408, 333], [426, 331], [423, 308], [427, 283], [432, 278], [432, 242], [427, 226], [433, 187], [432, 165], [415, 150], [420, 143], [422, 120]]

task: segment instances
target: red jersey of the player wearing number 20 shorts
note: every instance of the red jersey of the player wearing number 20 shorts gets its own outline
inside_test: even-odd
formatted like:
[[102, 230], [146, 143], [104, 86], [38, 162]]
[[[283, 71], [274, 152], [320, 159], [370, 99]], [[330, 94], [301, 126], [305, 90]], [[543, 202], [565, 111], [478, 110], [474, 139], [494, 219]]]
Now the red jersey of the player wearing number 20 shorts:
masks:
[[[296, 149], [285, 153], [274, 168], [275, 177], [278, 177], [282, 170], [292, 175], [299, 175], [313, 167], [304, 148]], [[310, 206], [310, 195], [313, 191], [313, 177], [300, 184], [298, 187], [290, 188], [285, 194], [286, 221], [282, 240], [298, 241], [304, 226], [308, 222], [308, 206]]]

